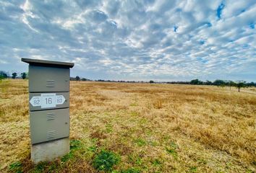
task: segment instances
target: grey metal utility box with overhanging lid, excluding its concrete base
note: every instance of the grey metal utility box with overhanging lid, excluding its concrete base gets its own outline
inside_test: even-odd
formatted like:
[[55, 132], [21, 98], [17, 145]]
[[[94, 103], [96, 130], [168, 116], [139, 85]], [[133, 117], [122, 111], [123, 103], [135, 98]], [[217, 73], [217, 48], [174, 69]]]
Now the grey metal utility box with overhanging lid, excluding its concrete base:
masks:
[[74, 63], [30, 58], [22, 61], [29, 63], [32, 146], [69, 138], [69, 79]]

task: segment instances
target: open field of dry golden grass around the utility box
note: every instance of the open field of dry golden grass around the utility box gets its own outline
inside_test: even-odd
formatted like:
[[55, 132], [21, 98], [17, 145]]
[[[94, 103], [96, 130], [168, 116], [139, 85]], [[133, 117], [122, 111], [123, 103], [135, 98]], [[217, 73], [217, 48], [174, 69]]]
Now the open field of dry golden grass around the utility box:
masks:
[[72, 152], [34, 167], [28, 82], [0, 82], [0, 172], [256, 172], [255, 89], [72, 81]]

